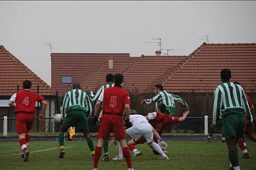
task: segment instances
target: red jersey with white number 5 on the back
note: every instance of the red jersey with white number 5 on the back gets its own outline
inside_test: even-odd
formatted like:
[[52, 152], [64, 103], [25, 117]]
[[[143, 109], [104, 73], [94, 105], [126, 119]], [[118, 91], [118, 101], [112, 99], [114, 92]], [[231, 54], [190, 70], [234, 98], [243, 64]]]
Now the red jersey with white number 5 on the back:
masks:
[[125, 104], [130, 103], [130, 94], [118, 86], [104, 89], [103, 113], [123, 115]]

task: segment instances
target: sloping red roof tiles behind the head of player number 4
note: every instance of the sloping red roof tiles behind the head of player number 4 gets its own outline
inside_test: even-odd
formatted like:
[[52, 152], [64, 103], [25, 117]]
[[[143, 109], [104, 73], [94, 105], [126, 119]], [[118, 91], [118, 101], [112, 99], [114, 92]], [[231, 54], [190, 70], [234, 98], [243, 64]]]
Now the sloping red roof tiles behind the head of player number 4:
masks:
[[0, 61], [1, 96], [13, 95], [17, 92], [17, 85], [22, 89], [23, 81], [26, 79], [32, 81], [31, 90], [33, 92], [37, 92], [37, 85], [39, 85], [41, 95], [55, 95], [54, 89], [7, 51], [4, 46], [0, 46]]

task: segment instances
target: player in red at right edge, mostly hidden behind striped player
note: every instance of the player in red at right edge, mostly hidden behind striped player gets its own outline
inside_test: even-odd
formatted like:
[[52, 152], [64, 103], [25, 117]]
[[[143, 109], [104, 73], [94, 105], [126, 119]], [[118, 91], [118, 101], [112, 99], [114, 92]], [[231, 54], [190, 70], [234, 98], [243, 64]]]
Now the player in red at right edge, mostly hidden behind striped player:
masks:
[[[239, 82], [234, 82], [234, 83], [240, 85]], [[253, 104], [250, 101], [250, 98], [249, 98], [249, 96], [247, 94], [245, 94], [245, 97], [246, 97], [246, 100], [247, 100], [247, 102], [249, 104], [251, 114], [253, 116], [253, 122], [255, 122], [256, 121], [256, 117], [255, 117], [255, 113], [254, 113]], [[251, 126], [251, 124], [249, 124], [249, 121], [248, 121], [248, 119], [247, 119], [245, 114], [244, 114], [244, 118], [245, 118], [244, 134], [248, 135], [250, 140], [256, 142], [256, 135], [254, 134], [254, 127]], [[241, 156], [241, 158], [245, 158], [245, 159], [246, 158], [250, 158], [250, 154], [248, 152], [248, 148], [246, 147], [244, 139], [243, 138], [239, 138], [238, 141], [237, 141], [237, 144], [240, 147], [241, 151], [243, 152], [243, 156]]]

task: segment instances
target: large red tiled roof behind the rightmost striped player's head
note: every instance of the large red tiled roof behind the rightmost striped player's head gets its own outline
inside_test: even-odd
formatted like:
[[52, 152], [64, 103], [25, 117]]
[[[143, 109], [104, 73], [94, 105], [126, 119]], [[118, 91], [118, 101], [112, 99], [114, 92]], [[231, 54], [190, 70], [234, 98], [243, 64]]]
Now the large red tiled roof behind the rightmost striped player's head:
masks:
[[220, 72], [228, 68], [230, 81], [245, 92], [256, 92], [256, 43], [206, 44], [163, 83], [169, 92], [213, 92], [221, 84]]

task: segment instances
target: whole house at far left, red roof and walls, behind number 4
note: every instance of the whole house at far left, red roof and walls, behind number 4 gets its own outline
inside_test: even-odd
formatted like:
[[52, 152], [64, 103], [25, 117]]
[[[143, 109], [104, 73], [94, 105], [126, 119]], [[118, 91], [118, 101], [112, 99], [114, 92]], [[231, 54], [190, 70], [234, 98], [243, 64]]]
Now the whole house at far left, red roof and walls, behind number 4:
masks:
[[[19, 90], [22, 90], [23, 81], [26, 79], [32, 82], [32, 92], [38, 92], [39, 89], [39, 94], [46, 99], [46, 117], [52, 117], [55, 113], [55, 90], [52, 89], [41, 78], [39, 78], [34, 72], [32, 72], [32, 70], [25, 66], [2, 45], [0, 46], [0, 61], [0, 118], [3, 118], [3, 116], [7, 116], [8, 118], [15, 117], [15, 112], [9, 107], [8, 101], [13, 94]], [[8, 124], [9, 132], [16, 132], [15, 120], [9, 120]], [[37, 126], [36, 121], [34, 122], [33, 126]], [[51, 128], [50, 126], [50, 121], [46, 120], [40, 124], [40, 130], [48, 131]], [[33, 129], [37, 130], [36, 128]], [[0, 131], [2, 130], [3, 121], [0, 121]]]

